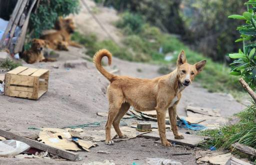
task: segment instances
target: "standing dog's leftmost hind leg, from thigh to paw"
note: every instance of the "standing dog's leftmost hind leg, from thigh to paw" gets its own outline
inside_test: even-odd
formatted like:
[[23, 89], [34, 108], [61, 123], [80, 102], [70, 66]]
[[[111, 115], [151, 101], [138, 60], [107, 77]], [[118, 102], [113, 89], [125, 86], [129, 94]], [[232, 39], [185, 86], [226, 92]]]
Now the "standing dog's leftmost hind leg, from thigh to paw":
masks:
[[109, 102], [109, 111], [108, 118], [105, 126], [106, 139], [105, 144], [111, 145], [113, 144], [113, 140], [111, 139], [110, 129], [111, 125], [118, 114], [118, 111], [121, 108], [121, 104], [123, 103], [123, 95], [121, 90], [118, 89], [109, 89], [107, 90], [108, 94], [108, 102]]

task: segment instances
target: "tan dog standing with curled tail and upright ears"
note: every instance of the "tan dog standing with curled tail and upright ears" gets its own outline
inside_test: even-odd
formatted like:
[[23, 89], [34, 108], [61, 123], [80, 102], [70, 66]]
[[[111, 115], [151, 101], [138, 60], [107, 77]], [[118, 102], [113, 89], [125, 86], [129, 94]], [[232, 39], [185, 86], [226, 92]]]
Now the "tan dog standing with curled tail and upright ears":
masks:
[[158, 131], [161, 143], [171, 146], [165, 134], [165, 114], [168, 109], [171, 130], [175, 138], [184, 138], [178, 133], [176, 126], [176, 105], [181, 97], [181, 91], [188, 86], [204, 67], [206, 60], [201, 60], [193, 65], [186, 62], [186, 56], [182, 50], [177, 59], [177, 68], [169, 74], [153, 79], [140, 79], [130, 76], [113, 75], [107, 72], [101, 65], [101, 59], [107, 56], [108, 64], [111, 64], [112, 55], [106, 49], [95, 53], [93, 61], [98, 71], [109, 81], [107, 96], [109, 102], [108, 118], [105, 125], [105, 144], [113, 144], [110, 136], [110, 128], [113, 127], [119, 138], [126, 138], [119, 128], [122, 116], [130, 106], [136, 110], [156, 110]]

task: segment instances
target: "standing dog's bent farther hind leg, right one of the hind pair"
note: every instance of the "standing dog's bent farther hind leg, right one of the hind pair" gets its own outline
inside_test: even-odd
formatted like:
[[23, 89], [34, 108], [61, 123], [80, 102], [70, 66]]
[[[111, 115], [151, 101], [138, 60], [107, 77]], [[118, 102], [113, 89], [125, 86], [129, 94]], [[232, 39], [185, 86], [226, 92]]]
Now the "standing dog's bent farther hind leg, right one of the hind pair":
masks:
[[127, 135], [122, 134], [122, 132], [119, 128], [119, 123], [120, 123], [120, 120], [123, 117], [123, 115], [128, 111], [129, 107], [130, 107], [130, 104], [128, 102], [122, 103], [121, 108], [120, 108], [119, 112], [117, 113], [117, 115], [115, 116], [114, 121], [113, 121], [114, 130], [116, 131], [119, 138], [127, 138]]

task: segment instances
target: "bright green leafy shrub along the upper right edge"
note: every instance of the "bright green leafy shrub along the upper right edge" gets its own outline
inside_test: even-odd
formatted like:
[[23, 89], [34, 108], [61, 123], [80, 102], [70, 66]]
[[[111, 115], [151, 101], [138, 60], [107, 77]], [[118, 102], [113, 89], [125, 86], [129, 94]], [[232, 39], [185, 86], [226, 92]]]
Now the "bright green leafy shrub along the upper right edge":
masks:
[[[237, 30], [240, 33], [238, 41], [243, 41], [243, 51], [239, 49], [238, 53], [230, 53], [229, 57], [236, 59], [231, 63], [232, 69], [230, 74], [241, 75], [248, 85], [256, 89], [256, 1], [249, 0], [247, 3], [248, 9], [242, 15], [230, 15], [229, 18], [242, 19], [245, 24], [238, 26]], [[249, 7], [250, 6], [250, 7]], [[247, 42], [245, 42], [247, 41]]]

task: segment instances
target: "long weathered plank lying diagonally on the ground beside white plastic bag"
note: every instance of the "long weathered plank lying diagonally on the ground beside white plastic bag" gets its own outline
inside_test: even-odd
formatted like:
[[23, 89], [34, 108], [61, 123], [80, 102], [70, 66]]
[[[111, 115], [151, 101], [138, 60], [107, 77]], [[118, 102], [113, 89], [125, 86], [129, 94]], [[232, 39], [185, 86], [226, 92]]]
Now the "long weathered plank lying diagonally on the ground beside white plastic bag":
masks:
[[14, 140], [18, 140], [18, 141], [22, 141], [28, 145], [30, 145], [31, 147], [43, 150], [43, 151], [48, 151], [48, 153], [69, 159], [69, 160], [76, 160], [79, 156], [79, 154], [71, 152], [71, 151], [67, 151], [67, 150], [63, 150], [63, 149], [59, 149], [56, 147], [52, 147], [50, 145], [41, 143], [39, 141], [35, 141], [26, 137], [22, 137], [19, 135], [16, 135], [14, 133], [5, 131], [5, 130], [1, 130], [0, 129], [0, 135], [8, 138], [8, 139], [14, 139]]

